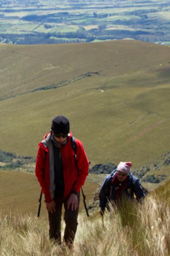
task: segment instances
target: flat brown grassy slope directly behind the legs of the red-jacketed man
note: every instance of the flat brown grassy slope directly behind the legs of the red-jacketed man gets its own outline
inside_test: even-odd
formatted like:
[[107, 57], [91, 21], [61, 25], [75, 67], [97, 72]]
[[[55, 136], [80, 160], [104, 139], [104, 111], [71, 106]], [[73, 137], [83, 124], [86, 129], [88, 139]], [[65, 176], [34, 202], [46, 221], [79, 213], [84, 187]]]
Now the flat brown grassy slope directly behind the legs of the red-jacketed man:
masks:
[[[83, 186], [88, 204], [91, 195], [99, 185], [89, 181]], [[31, 173], [21, 173], [0, 170], [0, 209], [11, 212], [23, 212], [37, 214], [38, 200], [40, 197], [40, 186], [35, 175]], [[44, 198], [42, 198], [41, 216], [46, 216]], [[84, 209], [82, 195], [80, 200], [80, 211]]]

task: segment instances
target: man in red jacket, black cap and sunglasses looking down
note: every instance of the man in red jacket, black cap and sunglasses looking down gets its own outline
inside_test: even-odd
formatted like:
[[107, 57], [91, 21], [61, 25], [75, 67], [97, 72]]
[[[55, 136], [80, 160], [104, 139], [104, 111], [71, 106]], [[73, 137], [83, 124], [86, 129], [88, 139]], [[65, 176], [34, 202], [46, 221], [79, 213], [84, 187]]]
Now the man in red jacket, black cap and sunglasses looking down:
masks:
[[61, 216], [64, 204], [64, 241], [71, 247], [77, 230], [79, 191], [88, 175], [88, 159], [81, 141], [76, 139], [77, 159], [71, 145], [69, 120], [56, 116], [51, 132], [39, 144], [36, 176], [45, 195], [49, 218], [49, 236], [61, 244]]

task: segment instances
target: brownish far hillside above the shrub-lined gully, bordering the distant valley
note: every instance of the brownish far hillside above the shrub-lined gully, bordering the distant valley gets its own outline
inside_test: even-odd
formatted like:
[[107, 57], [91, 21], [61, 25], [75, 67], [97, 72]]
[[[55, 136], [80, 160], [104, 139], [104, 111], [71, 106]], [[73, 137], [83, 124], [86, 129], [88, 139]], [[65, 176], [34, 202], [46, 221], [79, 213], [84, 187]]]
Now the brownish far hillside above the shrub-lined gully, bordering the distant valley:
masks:
[[[0, 45], [0, 94], [12, 96], [88, 71], [124, 75], [169, 60], [167, 47], [139, 41], [102, 44]], [[76, 54], [75, 54], [76, 52]]]

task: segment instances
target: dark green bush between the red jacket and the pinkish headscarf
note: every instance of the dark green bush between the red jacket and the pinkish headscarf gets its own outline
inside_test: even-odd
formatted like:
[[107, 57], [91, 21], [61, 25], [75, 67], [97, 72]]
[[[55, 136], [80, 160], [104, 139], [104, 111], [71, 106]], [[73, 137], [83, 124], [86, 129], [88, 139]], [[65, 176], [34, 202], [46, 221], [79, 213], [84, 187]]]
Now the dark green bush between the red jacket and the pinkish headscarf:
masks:
[[117, 166], [114, 163], [96, 164], [91, 169], [89, 169], [89, 173], [111, 173], [116, 167]]

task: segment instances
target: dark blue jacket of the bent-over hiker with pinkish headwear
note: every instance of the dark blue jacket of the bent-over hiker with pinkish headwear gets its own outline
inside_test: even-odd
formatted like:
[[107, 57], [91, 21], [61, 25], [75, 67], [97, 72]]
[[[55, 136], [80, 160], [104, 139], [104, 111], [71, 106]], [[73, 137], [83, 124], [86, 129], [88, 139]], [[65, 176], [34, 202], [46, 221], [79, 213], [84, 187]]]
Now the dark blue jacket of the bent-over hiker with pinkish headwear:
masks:
[[[99, 207], [103, 212], [105, 211], [105, 207], [107, 206], [108, 202], [113, 201], [116, 195], [116, 185], [112, 183], [113, 177], [116, 175], [116, 171], [117, 170], [114, 169], [111, 174], [105, 177], [100, 188]], [[127, 187], [125, 190], [123, 190], [123, 192], [128, 198], [132, 199], [134, 198], [135, 194], [137, 201], [145, 197], [142, 186], [139, 183], [139, 179], [134, 177], [131, 172], [129, 179], [127, 180]]]

